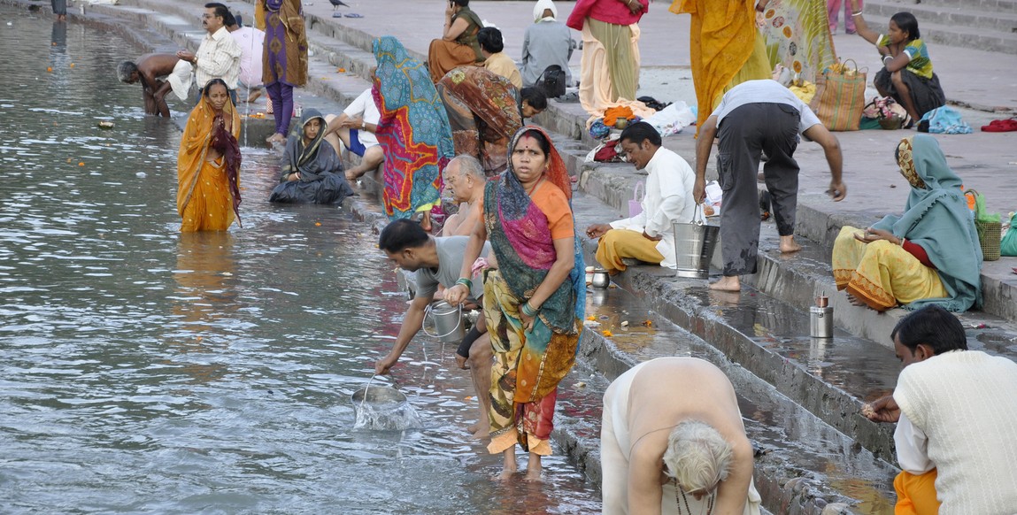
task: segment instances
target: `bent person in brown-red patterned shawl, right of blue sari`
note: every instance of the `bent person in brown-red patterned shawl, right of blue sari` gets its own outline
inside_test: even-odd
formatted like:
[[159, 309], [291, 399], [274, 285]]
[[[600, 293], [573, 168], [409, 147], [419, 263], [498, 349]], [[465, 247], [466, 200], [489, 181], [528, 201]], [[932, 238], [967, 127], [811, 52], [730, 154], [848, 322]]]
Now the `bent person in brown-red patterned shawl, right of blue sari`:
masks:
[[523, 126], [516, 86], [477, 66], [460, 66], [436, 86], [452, 125], [456, 154], [479, 159], [487, 177], [504, 172], [508, 139]]

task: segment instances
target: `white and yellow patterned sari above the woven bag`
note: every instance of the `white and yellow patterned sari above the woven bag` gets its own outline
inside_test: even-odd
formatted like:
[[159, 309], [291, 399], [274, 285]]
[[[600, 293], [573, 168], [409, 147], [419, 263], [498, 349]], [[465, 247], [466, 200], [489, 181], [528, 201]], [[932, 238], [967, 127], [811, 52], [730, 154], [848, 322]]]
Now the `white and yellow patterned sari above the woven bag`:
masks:
[[771, 0], [760, 23], [770, 68], [782, 64], [815, 83], [837, 62], [828, 19], [826, 2]]

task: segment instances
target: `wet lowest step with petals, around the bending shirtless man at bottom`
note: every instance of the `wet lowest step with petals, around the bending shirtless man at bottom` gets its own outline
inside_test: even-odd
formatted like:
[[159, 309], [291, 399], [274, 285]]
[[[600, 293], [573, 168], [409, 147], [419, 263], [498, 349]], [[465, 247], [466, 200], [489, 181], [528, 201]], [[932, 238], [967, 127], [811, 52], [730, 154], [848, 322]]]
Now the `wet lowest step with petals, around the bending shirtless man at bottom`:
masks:
[[[590, 291], [580, 366], [559, 386], [555, 439], [599, 482], [601, 402], [607, 382], [653, 358], [695, 356], [727, 374], [738, 392], [745, 431], [759, 450], [756, 487], [774, 513], [886, 513], [896, 468], [861, 449], [791, 399], [779, 394], [701, 338], [651, 311], [622, 288]], [[649, 320], [650, 326], [642, 325]], [[629, 321], [627, 327], [620, 323]], [[611, 331], [610, 336], [604, 330]], [[599, 371], [606, 376], [601, 377]], [[591, 377], [591, 375], [593, 377]], [[606, 380], [605, 380], [606, 379]], [[584, 383], [582, 387], [578, 384]], [[826, 510], [826, 511], [824, 511]]]

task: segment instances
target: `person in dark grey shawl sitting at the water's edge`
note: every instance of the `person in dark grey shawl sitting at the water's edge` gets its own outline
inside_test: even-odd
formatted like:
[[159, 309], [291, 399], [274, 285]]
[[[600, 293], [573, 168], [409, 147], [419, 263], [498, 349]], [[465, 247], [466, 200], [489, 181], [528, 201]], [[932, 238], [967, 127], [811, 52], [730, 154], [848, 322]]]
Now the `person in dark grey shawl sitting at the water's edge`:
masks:
[[270, 202], [339, 204], [353, 195], [346, 182], [343, 159], [324, 140], [324, 117], [315, 109], [304, 111], [283, 152], [283, 175], [272, 190]]

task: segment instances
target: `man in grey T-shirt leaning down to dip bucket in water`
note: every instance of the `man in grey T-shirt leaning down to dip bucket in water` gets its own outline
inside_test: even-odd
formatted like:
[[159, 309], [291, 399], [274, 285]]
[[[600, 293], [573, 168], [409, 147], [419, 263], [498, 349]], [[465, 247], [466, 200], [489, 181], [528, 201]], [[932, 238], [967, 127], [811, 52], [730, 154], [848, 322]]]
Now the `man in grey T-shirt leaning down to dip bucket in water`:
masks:
[[[470, 239], [465, 236], [434, 238], [418, 222], [408, 218], [395, 220], [381, 231], [378, 248], [385, 253], [390, 261], [403, 270], [417, 273], [417, 295], [406, 311], [392, 350], [374, 364], [375, 374], [387, 374], [399, 362], [410, 340], [420, 331], [424, 321], [424, 310], [434, 300], [438, 285], [447, 288], [457, 283], [459, 272], [463, 268], [463, 254], [469, 241]], [[480, 255], [487, 256], [489, 250], [490, 244], [484, 243]], [[479, 306], [484, 295], [483, 281], [477, 280], [467, 287], [470, 288], [470, 296], [466, 303]], [[483, 315], [477, 319], [477, 325], [463, 338], [456, 353], [458, 355], [456, 361], [461, 368], [467, 368], [466, 363], [469, 363], [468, 368], [480, 408], [480, 419], [469, 431], [478, 439], [486, 439], [490, 427], [488, 411], [491, 405], [493, 352]]]

